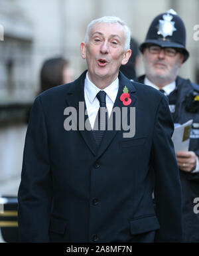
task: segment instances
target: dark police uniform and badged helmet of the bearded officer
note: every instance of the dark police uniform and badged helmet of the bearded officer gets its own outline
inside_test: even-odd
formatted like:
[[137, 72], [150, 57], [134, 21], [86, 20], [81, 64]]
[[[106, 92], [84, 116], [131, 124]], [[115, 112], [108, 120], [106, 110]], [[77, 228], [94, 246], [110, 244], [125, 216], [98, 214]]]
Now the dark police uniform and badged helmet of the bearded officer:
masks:
[[[169, 26], [170, 33], [168, 33]], [[173, 10], [155, 17], [149, 27], [145, 42], [139, 47], [142, 53], [148, 44], [180, 49], [184, 54], [184, 61], [188, 59], [189, 53], [185, 48], [186, 31], [184, 23]], [[136, 79], [137, 82], [141, 83], [144, 83], [144, 80], [145, 75]], [[190, 119], [193, 120], [189, 151], [195, 152], [199, 158], [199, 85], [180, 76], [177, 76], [175, 82], [176, 88], [168, 95], [169, 105], [174, 106], [174, 108], [170, 108], [170, 110], [173, 109], [171, 111], [172, 118], [174, 123], [178, 124], [183, 124]], [[199, 172], [180, 170], [180, 180], [183, 200], [183, 241], [199, 242], [199, 213], [194, 212], [196, 204], [194, 198], [199, 197]]]

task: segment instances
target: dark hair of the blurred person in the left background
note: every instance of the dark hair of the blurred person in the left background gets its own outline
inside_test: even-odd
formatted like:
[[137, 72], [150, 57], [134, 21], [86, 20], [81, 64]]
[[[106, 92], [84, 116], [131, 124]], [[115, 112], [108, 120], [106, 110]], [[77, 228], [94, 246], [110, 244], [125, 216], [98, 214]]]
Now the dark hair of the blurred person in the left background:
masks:
[[62, 57], [44, 61], [40, 70], [40, 92], [63, 83], [63, 69], [68, 61]]

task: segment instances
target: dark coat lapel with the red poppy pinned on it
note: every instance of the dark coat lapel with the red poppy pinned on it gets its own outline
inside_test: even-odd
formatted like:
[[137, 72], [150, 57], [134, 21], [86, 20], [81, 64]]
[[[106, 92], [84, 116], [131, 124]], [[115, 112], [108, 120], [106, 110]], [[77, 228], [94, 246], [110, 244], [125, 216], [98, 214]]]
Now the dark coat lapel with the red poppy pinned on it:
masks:
[[[121, 94], [123, 94], [123, 88], [125, 86], [127, 86], [127, 88], [129, 89], [129, 94], [131, 98], [131, 104], [129, 104], [128, 106], [124, 106], [123, 102], [121, 102], [120, 100], [120, 96]], [[135, 102], [137, 100], [137, 97], [133, 95], [134, 93], [135, 93], [135, 87], [133, 86], [133, 83], [129, 79], [127, 79], [121, 72], [119, 72], [119, 90], [117, 92], [117, 97], [113, 105], [113, 108], [119, 107], [120, 110], [122, 109], [122, 107], [127, 108], [127, 115], [128, 115], [130, 108], [135, 106]], [[121, 124], [121, 128], [122, 128], [122, 124]], [[109, 144], [111, 143], [111, 141], [113, 140], [117, 132], [118, 131], [114, 129], [105, 131], [105, 134], [101, 140], [100, 147], [98, 148], [98, 153], [96, 158], [99, 158], [101, 154], [103, 154], [103, 152], [107, 149], [107, 147], [109, 146]]]

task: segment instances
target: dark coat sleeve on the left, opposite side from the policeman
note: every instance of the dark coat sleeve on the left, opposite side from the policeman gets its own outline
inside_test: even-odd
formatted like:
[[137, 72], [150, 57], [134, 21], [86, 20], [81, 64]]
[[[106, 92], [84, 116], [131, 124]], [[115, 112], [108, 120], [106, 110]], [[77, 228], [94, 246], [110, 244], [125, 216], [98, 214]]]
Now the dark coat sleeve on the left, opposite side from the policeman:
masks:
[[22, 242], [48, 242], [52, 180], [48, 132], [38, 96], [33, 104], [23, 153], [18, 192], [19, 235]]

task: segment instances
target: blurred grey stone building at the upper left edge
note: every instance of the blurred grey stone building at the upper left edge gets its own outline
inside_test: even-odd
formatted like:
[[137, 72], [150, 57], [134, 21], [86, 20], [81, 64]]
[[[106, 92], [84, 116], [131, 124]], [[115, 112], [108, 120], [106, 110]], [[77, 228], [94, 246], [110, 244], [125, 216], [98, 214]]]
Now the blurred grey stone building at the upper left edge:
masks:
[[[0, 41], [0, 103], [22, 98], [29, 101], [33, 98], [30, 90], [31, 23], [21, 13], [17, 1], [8, 0], [0, 1], [0, 24], [4, 33]], [[8, 63], [13, 63], [11, 72]], [[12, 80], [10, 88], [8, 80]]]

